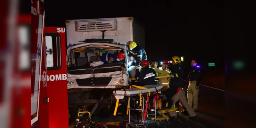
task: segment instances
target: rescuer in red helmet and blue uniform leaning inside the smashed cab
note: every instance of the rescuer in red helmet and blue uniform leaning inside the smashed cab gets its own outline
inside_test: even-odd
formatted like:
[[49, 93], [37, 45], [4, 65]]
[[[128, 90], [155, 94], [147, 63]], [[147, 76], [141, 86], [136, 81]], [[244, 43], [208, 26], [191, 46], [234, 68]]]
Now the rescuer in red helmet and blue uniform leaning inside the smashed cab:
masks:
[[112, 61], [115, 61], [117, 59], [119, 60], [123, 60], [125, 57], [123, 52], [119, 52], [117, 55], [116, 54], [112, 54], [112, 53], [102, 53], [100, 56], [100, 60], [102, 62], [104, 62], [104, 64], [106, 63], [111, 63]]

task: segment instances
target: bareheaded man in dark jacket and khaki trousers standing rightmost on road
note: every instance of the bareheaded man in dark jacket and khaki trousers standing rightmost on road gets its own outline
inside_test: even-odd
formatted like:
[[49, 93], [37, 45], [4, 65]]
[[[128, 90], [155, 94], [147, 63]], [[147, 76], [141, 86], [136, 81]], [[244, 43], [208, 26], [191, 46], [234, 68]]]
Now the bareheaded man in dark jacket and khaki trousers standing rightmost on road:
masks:
[[191, 61], [191, 69], [188, 74], [188, 79], [188, 104], [192, 107], [193, 101], [193, 110], [196, 111], [198, 109], [198, 88], [201, 81], [200, 66], [197, 65], [196, 60]]

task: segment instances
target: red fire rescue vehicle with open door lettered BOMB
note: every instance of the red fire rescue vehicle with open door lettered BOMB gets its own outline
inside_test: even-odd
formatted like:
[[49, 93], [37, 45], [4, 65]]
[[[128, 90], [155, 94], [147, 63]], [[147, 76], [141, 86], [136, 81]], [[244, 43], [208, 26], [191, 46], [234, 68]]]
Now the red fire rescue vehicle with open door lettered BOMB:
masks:
[[31, 2], [31, 127], [65, 128], [67, 86], [62, 85], [67, 84], [67, 70], [66, 56], [61, 54], [66, 51], [65, 28], [44, 27], [43, 0]]

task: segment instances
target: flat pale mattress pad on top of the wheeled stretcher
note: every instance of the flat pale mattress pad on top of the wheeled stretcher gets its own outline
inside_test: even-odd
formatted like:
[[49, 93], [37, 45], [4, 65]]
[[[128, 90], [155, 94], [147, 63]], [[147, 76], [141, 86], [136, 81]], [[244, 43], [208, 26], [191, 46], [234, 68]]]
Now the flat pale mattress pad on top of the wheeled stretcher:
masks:
[[[146, 87], [149, 89], [150, 92], [154, 92], [154, 91], [157, 91], [157, 90], [160, 90], [163, 88], [162, 85], [145, 85], [145, 86], [142, 86], [142, 87]], [[148, 93], [148, 89], [139, 89], [139, 88], [133, 88], [133, 89], [126, 89], [126, 94], [127, 95], [136, 95], [136, 94], [139, 94], [139, 91], [141, 93]], [[157, 90], [156, 90], [157, 89]], [[113, 93], [115, 94], [116, 92], [116, 99], [123, 99], [124, 96], [125, 96], [125, 90], [116, 90], [116, 91], [113, 91]]]

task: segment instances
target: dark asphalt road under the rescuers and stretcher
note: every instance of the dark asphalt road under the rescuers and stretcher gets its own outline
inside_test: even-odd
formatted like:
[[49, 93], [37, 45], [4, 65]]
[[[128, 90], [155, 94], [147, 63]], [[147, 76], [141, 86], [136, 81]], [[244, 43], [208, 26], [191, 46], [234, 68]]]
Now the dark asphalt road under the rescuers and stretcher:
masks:
[[[189, 82], [184, 81], [184, 90], [186, 92]], [[180, 106], [180, 110], [182, 107]], [[216, 90], [213, 88], [200, 86], [199, 87], [199, 95], [198, 95], [198, 111], [196, 112], [199, 119], [197, 121], [190, 120], [188, 116], [179, 114], [178, 121], [168, 123], [167, 121], [161, 121], [160, 127], [163, 128], [216, 128], [223, 127], [224, 128], [224, 113], [225, 113], [225, 92]], [[126, 115], [118, 115], [112, 116], [112, 112], [108, 114], [104, 114], [101, 119], [111, 119], [115, 122], [117, 120], [128, 120]], [[100, 119], [98, 119], [100, 120]], [[109, 122], [113, 122], [109, 121]], [[108, 126], [111, 128], [114, 126]], [[150, 123], [148, 128], [158, 127], [156, 123]]]

